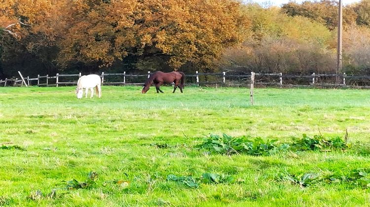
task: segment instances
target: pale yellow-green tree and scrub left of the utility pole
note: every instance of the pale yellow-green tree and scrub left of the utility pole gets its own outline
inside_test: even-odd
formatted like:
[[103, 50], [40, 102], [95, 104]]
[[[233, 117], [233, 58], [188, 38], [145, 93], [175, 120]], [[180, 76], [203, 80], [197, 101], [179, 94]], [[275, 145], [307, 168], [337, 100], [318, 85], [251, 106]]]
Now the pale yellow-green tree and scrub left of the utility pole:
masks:
[[243, 12], [251, 19], [250, 34], [241, 46], [225, 51], [221, 67], [237, 71], [307, 74], [331, 72], [333, 34], [306, 17], [287, 16], [278, 7], [249, 4]]

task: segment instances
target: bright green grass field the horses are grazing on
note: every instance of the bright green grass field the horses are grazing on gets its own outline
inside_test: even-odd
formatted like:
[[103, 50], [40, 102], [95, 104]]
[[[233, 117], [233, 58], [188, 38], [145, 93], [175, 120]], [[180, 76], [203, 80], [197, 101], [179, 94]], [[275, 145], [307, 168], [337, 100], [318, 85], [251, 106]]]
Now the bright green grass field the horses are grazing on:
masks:
[[[0, 146], [25, 149], [0, 148], [0, 206], [370, 206], [358, 182], [277, 179], [369, 172], [370, 91], [257, 88], [251, 106], [247, 88], [162, 90], [103, 86], [102, 99], [77, 100], [74, 87], [0, 88]], [[344, 137], [346, 129], [348, 150], [227, 156], [194, 147], [210, 134], [289, 142]], [[95, 183], [66, 187], [91, 171]], [[166, 180], [202, 173], [238, 182], [190, 188]]]

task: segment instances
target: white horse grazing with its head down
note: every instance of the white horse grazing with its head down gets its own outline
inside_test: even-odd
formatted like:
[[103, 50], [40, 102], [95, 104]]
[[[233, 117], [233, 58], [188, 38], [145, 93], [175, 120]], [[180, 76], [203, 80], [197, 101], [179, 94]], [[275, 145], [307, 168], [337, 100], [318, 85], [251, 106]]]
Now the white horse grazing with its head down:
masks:
[[90, 98], [94, 96], [94, 87], [96, 89], [96, 93], [99, 95], [99, 98], [102, 97], [102, 88], [100, 84], [102, 83], [102, 80], [100, 79], [99, 75], [83, 75], [81, 76], [77, 81], [77, 88], [76, 88], [76, 95], [77, 99], [81, 99], [83, 96], [83, 88], [85, 88], [86, 92], [86, 98], [87, 98], [87, 92], [88, 89], [91, 91]]

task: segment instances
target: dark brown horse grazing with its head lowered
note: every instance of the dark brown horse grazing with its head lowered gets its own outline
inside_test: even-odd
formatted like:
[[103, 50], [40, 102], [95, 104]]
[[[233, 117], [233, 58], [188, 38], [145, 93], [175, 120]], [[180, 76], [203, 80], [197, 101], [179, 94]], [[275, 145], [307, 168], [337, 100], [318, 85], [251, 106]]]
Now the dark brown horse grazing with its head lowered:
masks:
[[159, 86], [161, 86], [163, 83], [175, 83], [174, 91], [172, 93], [175, 93], [177, 87], [179, 87], [181, 93], [183, 93], [185, 74], [184, 72], [155, 71], [152, 74], [150, 74], [150, 77], [147, 79], [147, 81], [145, 81], [141, 93], [143, 94], [147, 93], [151, 84], [155, 85], [157, 93], [159, 92], [163, 93], [163, 91], [159, 89]]

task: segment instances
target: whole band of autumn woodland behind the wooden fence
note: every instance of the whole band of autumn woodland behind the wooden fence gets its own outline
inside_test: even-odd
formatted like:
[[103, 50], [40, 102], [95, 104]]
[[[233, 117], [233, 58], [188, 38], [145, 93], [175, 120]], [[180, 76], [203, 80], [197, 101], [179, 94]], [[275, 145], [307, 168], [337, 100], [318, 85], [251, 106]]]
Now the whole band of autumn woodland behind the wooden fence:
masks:
[[[337, 2], [1, 0], [0, 79], [147, 70], [335, 73]], [[344, 6], [343, 71], [370, 74], [370, 0]]]

